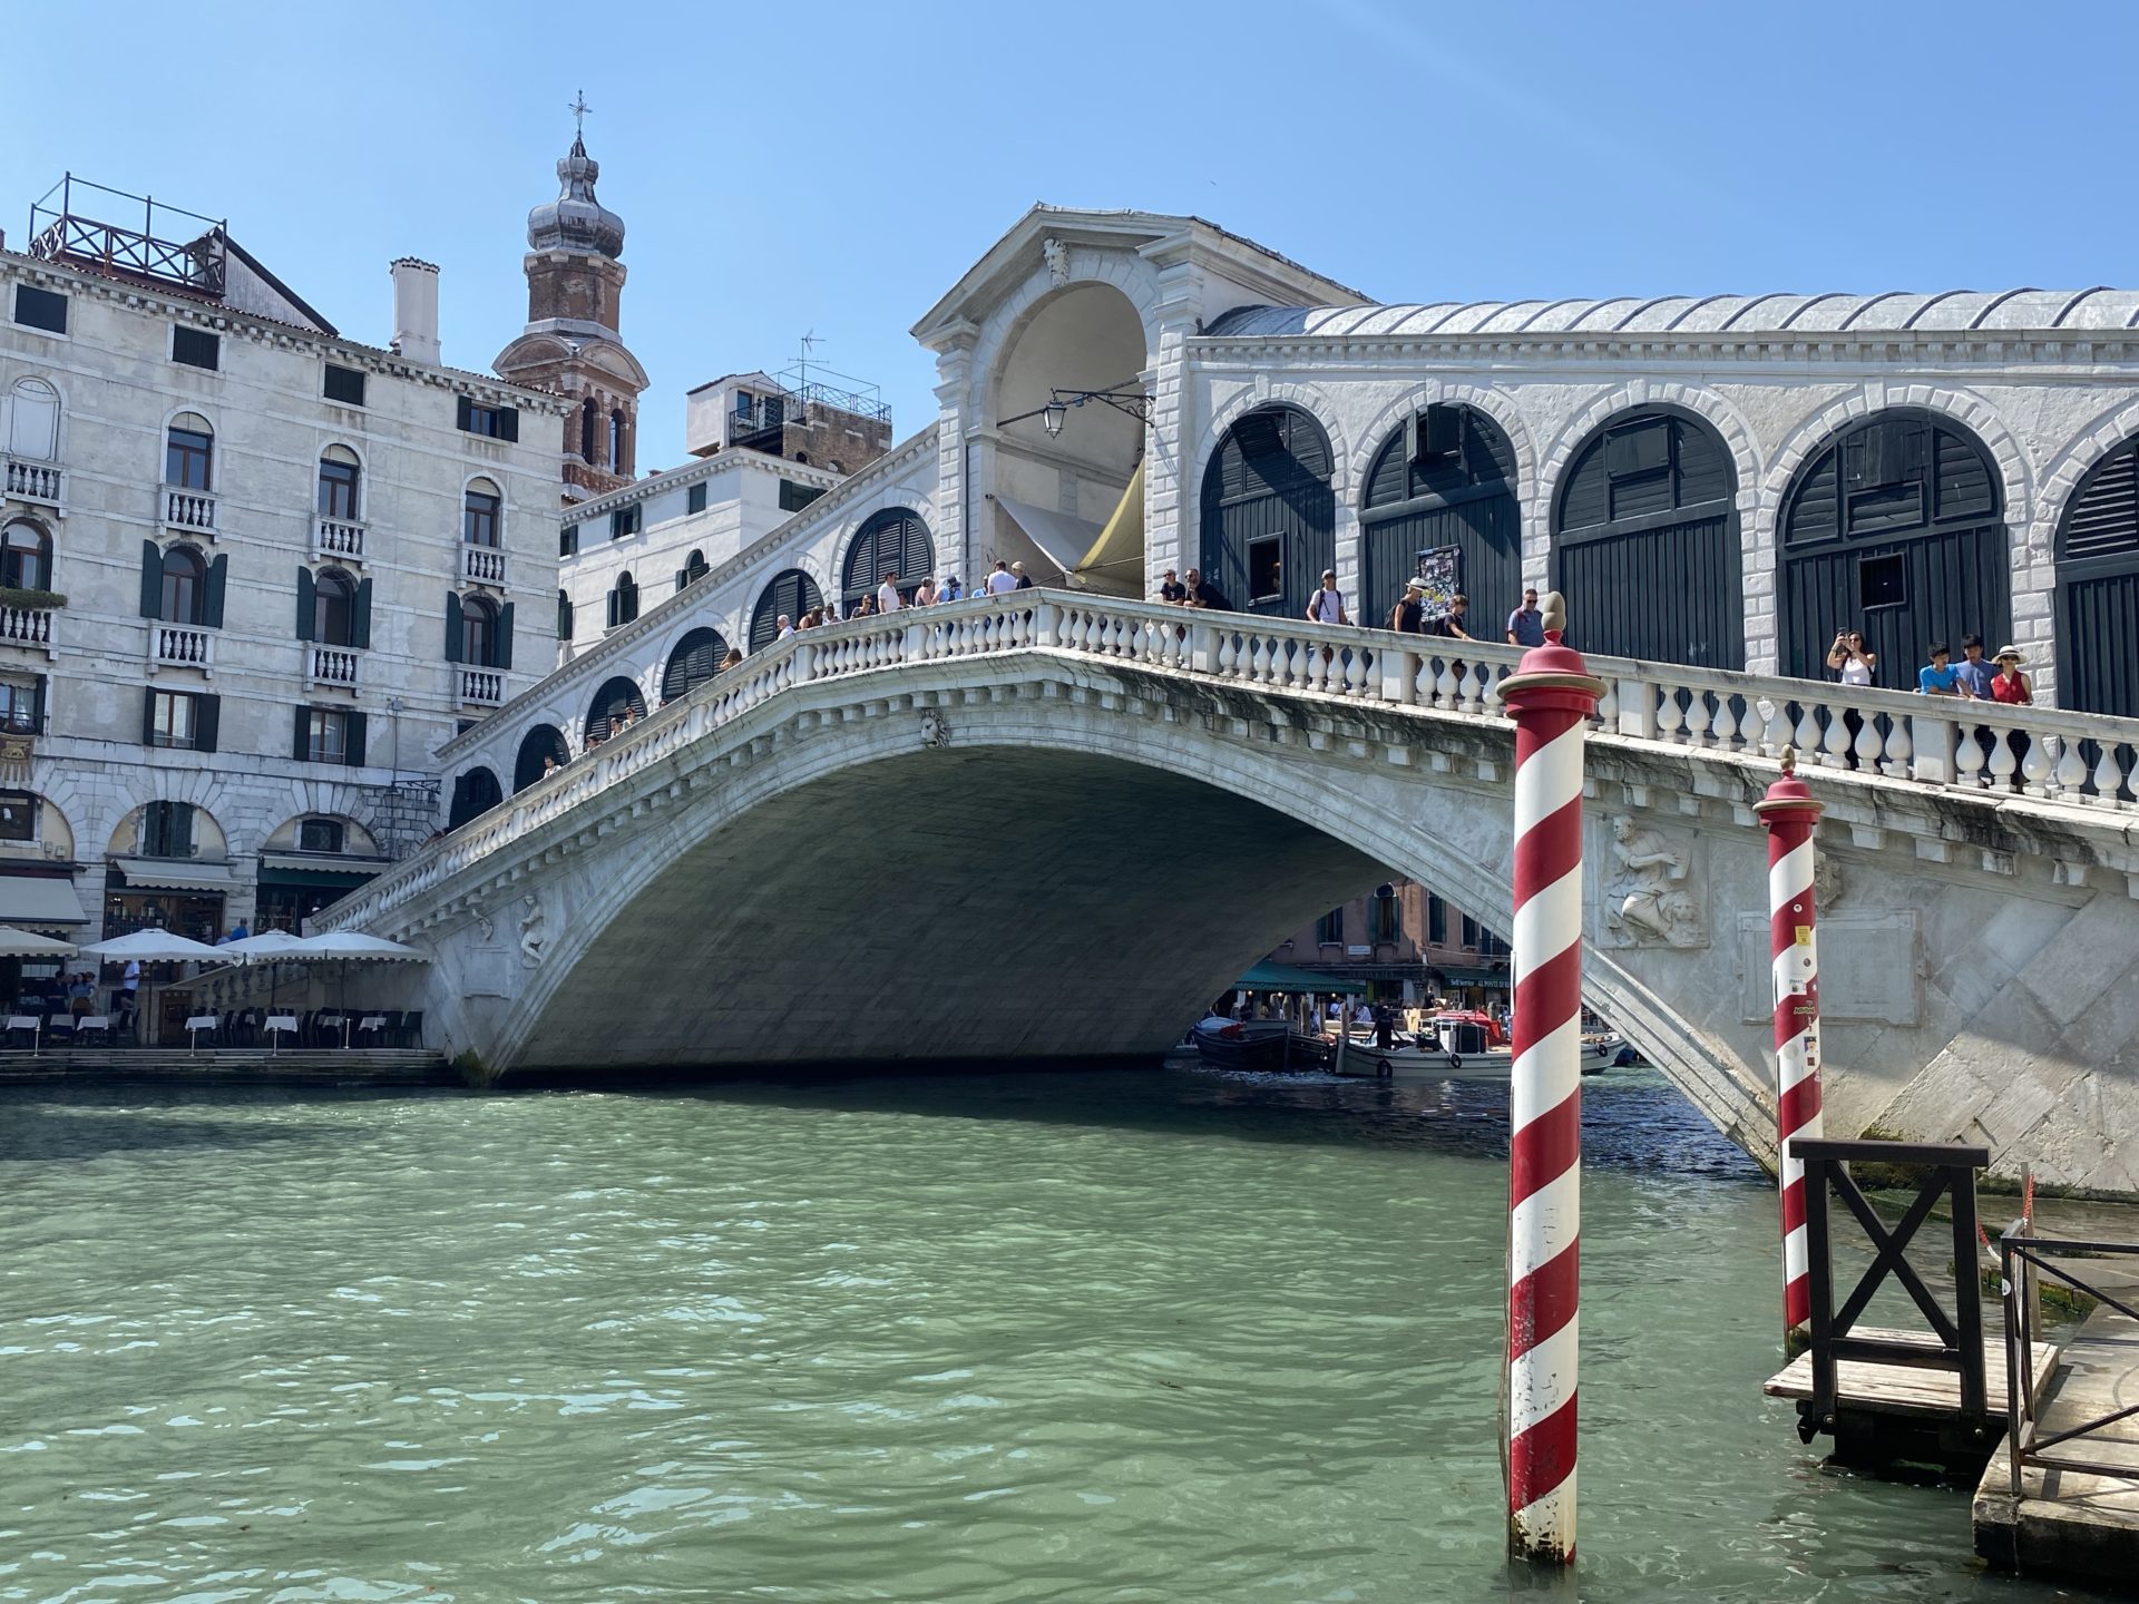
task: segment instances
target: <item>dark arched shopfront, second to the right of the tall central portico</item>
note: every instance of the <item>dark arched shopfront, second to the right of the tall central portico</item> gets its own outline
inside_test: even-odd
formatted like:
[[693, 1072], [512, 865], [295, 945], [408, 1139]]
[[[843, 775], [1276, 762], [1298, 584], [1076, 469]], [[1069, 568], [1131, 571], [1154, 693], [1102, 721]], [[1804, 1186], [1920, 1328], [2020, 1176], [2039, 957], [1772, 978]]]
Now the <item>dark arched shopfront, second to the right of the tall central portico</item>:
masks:
[[1354, 616], [1386, 624], [1420, 565], [1469, 595], [1465, 631], [1502, 639], [1523, 597], [1523, 509], [1514, 449], [1476, 406], [1427, 406], [1390, 432], [1367, 471]]

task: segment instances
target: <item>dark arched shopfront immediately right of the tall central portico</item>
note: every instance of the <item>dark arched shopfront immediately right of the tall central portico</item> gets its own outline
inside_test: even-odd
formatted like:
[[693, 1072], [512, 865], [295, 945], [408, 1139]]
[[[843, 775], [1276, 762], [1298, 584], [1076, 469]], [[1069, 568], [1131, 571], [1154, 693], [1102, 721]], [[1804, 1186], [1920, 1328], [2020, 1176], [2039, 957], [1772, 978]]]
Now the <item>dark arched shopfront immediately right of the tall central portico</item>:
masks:
[[1298, 406], [1260, 406], [1202, 481], [1202, 575], [1243, 612], [1298, 618], [1337, 562], [1330, 443]]

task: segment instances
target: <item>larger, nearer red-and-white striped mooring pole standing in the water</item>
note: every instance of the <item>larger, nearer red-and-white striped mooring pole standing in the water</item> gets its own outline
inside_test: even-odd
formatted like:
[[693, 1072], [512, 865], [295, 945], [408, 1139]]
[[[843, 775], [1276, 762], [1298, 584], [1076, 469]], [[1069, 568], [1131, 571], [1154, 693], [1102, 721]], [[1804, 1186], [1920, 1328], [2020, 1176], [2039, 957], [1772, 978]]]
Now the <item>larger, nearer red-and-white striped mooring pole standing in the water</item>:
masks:
[[1508, 1097], [1508, 1555], [1574, 1563], [1583, 1223], [1583, 738], [1604, 693], [1559, 644], [1502, 680], [1514, 719], [1514, 1069]]

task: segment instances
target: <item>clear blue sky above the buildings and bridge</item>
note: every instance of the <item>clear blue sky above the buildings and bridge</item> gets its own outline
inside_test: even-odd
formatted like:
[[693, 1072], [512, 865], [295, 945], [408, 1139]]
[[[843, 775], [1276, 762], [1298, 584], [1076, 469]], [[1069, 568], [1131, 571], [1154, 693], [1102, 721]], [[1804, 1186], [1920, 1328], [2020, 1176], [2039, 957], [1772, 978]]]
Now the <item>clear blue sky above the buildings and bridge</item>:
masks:
[[105, 0], [9, 43], [11, 246], [73, 169], [227, 216], [370, 342], [426, 257], [464, 368], [526, 317], [584, 88], [642, 468], [804, 329], [922, 426], [907, 327], [1033, 201], [1196, 212], [1378, 299], [2139, 276], [2126, 4]]

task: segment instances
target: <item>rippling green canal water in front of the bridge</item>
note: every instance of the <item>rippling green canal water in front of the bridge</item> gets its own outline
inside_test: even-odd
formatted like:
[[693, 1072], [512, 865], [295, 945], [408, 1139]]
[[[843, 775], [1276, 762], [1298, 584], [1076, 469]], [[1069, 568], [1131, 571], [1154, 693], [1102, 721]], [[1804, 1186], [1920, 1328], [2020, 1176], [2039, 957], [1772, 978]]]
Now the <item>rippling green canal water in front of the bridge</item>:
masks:
[[[1589, 1084], [1581, 1574], [2011, 1600], [1825, 1474], [1775, 1206]], [[0, 1600], [1469, 1600], [1504, 1093], [0, 1095]]]

